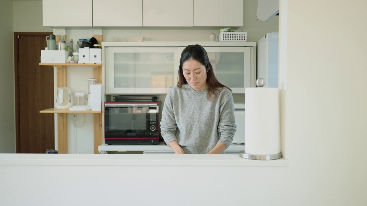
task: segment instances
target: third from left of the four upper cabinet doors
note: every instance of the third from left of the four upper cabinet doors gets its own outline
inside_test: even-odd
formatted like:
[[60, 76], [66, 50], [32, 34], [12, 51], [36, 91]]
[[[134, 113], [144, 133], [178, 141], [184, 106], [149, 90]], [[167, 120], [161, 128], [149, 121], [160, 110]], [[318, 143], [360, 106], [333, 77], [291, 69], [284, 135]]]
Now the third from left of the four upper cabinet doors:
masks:
[[144, 0], [143, 26], [192, 26], [193, 0]]

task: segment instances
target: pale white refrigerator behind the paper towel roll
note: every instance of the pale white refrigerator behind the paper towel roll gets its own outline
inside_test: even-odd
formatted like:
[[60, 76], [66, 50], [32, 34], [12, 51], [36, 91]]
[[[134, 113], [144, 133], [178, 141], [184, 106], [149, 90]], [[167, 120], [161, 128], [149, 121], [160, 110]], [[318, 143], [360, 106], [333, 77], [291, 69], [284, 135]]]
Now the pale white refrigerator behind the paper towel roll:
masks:
[[267, 33], [258, 41], [257, 77], [264, 78], [264, 87], [278, 87], [279, 32]]

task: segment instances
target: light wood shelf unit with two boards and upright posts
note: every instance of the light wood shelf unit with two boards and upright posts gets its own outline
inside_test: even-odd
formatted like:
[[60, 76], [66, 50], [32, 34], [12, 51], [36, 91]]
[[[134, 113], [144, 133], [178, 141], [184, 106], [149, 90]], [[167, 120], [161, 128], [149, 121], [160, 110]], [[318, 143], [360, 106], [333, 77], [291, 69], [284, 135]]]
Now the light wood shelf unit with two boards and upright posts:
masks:
[[[72, 64], [72, 63], [39, 63], [41, 66], [57, 68], [57, 87], [66, 87], [66, 67], [93, 67], [93, 77], [102, 84], [102, 64]], [[67, 113], [92, 113], [94, 118], [94, 153], [98, 154], [98, 146], [102, 144], [102, 111], [70, 111], [57, 108], [41, 110], [40, 113], [57, 113], [58, 152], [68, 154], [68, 115]]]

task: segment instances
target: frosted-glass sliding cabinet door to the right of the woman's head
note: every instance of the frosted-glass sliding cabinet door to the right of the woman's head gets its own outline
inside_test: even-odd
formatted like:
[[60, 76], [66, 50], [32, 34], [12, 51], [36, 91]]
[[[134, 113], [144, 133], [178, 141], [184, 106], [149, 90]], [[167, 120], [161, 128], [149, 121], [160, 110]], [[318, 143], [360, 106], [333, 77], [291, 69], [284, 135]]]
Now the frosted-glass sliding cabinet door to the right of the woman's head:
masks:
[[[179, 47], [179, 54], [184, 48]], [[255, 71], [252, 67], [250, 47], [204, 48], [219, 82], [237, 94], [244, 94], [246, 87], [252, 87]]]

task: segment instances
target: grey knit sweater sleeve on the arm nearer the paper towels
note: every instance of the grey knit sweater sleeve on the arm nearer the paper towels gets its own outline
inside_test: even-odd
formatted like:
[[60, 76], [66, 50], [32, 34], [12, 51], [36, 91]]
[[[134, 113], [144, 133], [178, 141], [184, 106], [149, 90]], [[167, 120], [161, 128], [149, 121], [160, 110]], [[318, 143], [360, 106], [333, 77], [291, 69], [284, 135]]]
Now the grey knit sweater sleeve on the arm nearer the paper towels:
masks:
[[218, 133], [221, 137], [218, 142], [225, 144], [226, 148], [230, 146], [235, 136], [237, 125], [235, 124], [235, 104], [232, 93], [221, 99], [219, 108]]

